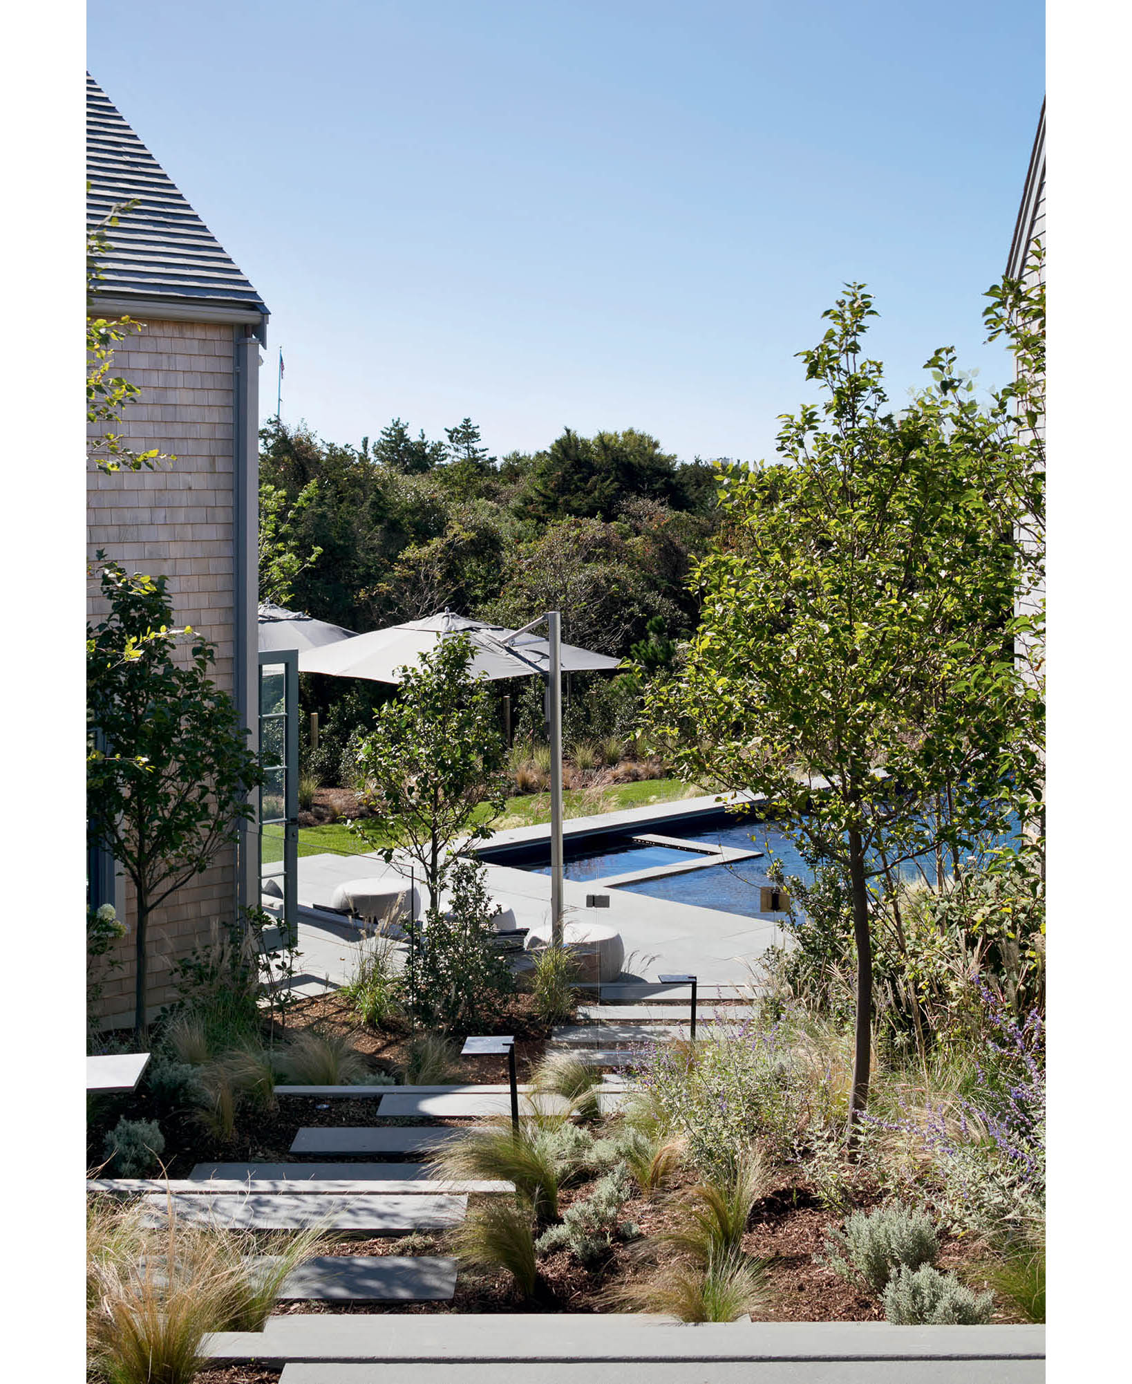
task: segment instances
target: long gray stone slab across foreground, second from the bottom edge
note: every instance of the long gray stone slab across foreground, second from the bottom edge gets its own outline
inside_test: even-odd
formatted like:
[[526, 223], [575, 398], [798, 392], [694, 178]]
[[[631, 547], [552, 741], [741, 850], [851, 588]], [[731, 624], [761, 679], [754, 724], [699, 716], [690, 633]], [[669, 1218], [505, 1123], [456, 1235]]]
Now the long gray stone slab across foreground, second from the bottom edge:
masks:
[[[673, 1324], [630, 1313], [400, 1313], [271, 1316], [263, 1331], [217, 1333], [216, 1360], [371, 1360], [502, 1365], [733, 1360], [1041, 1362], [1039, 1326], [890, 1326], [887, 1322], [735, 1322]], [[400, 1377], [400, 1370], [399, 1370]], [[761, 1378], [761, 1372], [757, 1376]], [[909, 1376], [912, 1377], [912, 1376]], [[540, 1374], [541, 1378], [541, 1374]], [[832, 1376], [836, 1378], [836, 1376]]]

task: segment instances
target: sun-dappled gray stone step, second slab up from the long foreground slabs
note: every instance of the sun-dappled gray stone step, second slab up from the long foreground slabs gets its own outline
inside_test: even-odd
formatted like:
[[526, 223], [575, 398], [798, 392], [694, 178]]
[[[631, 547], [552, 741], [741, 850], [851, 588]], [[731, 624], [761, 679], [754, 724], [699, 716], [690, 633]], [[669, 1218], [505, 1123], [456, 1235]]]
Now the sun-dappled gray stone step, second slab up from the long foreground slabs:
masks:
[[145, 1197], [144, 1223], [162, 1226], [169, 1207], [187, 1225], [224, 1230], [365, 1230], [368, 1235], [411, 1235], [459, 1225], [468, 1197], [459, 1196], [324, 1196], [320, 1193], [212, 1194], [176, 1193]]

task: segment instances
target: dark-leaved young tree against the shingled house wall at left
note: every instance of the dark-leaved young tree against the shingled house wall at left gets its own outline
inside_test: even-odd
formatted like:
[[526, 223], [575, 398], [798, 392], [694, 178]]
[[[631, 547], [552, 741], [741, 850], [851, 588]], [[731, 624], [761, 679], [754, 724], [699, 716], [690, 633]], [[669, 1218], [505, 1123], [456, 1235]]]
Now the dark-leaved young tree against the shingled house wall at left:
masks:
[[101, 587], [109, 614], [87, 631], [87, 823], [134, 886], [141, 1034], [149, 918], [235, 841], [263, 775], [235, 704], [208, 675], [212, 645], [195, 638], [187, 663], [174, 657], [184, 631], [173, 628], [165, 577], [108, 562]]

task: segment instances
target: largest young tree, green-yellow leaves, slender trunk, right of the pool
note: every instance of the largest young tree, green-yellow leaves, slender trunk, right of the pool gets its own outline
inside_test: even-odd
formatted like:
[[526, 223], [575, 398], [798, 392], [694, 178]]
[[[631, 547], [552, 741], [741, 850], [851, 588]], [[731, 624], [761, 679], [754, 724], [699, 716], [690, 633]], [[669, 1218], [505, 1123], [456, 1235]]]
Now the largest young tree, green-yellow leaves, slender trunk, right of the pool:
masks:
[[[862, 358], [861, 285], [803, 353], [822, 410], [785, 415], [790, 465], [721, 471], [729, 543], [699, 567], [703, 614], [649, 713], [689, 776], [767, 794], [840, 869], [857, 951], [850, 1136], [869, 1089], [869, 879], [1002, 828], [1021, 767], [1009, 641], [1019, 458], [929, 406], [886, 410]], [[949, 794], [944, 815], [926, 804]]]

